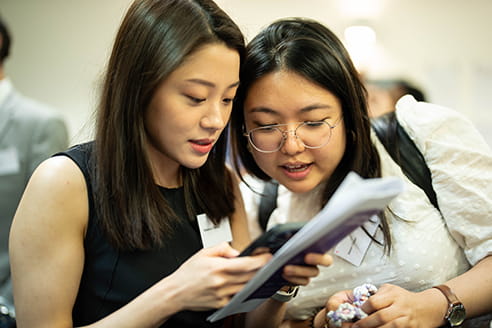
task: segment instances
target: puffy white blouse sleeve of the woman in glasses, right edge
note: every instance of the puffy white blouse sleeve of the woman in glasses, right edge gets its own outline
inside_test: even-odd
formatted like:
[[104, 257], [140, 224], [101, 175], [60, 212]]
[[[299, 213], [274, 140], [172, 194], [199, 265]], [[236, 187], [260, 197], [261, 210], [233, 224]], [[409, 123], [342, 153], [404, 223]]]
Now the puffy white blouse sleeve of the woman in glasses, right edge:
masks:
[[422, 152], [432, 174], [447, 228], [475, 265], [492, 254], [492, 151], [462, 114], [404, 96], [400, 124]]

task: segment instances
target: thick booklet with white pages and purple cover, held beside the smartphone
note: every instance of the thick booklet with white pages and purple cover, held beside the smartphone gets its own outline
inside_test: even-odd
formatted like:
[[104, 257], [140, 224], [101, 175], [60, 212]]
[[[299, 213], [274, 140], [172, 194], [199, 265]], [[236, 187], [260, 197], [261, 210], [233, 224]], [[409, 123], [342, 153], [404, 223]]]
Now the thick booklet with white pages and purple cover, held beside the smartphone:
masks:
[[286, 264], [304, 263], [307, 253], [325, 253], [384, 209], [403, 188], [398, 178], [362, 179], [350, 172], [325, 207], [285, 242], [225, 307], [207, 319], [214, 322], [255, 309], [287, 284], [281, 276]]

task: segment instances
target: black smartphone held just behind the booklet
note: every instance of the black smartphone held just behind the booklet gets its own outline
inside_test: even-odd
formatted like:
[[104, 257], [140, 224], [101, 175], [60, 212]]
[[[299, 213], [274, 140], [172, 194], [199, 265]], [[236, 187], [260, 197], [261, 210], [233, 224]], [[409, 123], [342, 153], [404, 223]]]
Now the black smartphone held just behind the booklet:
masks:
[[255, 239], [239, 256], [258, 255], [270, 252], [274, 254], [282, 245], [299, 231], [305, 222], [277, 224]]

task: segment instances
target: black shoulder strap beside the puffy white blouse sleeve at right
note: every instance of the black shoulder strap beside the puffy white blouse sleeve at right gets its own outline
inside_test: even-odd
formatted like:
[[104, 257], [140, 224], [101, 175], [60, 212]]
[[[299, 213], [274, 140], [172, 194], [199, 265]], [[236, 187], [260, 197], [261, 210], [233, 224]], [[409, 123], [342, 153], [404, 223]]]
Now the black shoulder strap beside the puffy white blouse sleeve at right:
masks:
[[391, 158], [401, 167], [408, 179], [426, 193], [432, 205], [439, 210], [436, 192], [432, 187], [431, 172], [424, 156], [396, 119], [395, 112], [373, 118], [371, 125]]

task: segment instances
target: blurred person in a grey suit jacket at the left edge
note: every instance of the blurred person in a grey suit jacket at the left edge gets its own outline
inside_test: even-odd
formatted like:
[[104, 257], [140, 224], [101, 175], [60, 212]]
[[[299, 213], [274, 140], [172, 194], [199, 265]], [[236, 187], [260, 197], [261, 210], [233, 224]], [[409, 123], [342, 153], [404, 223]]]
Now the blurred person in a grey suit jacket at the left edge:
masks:
[[63, 119], [48, 106], [20, 94], [4, 62], [12, 38], [0, 17], [0, 304], [13, 312], [8, 235], [27, 181], [44, 159], [68, 147]]

